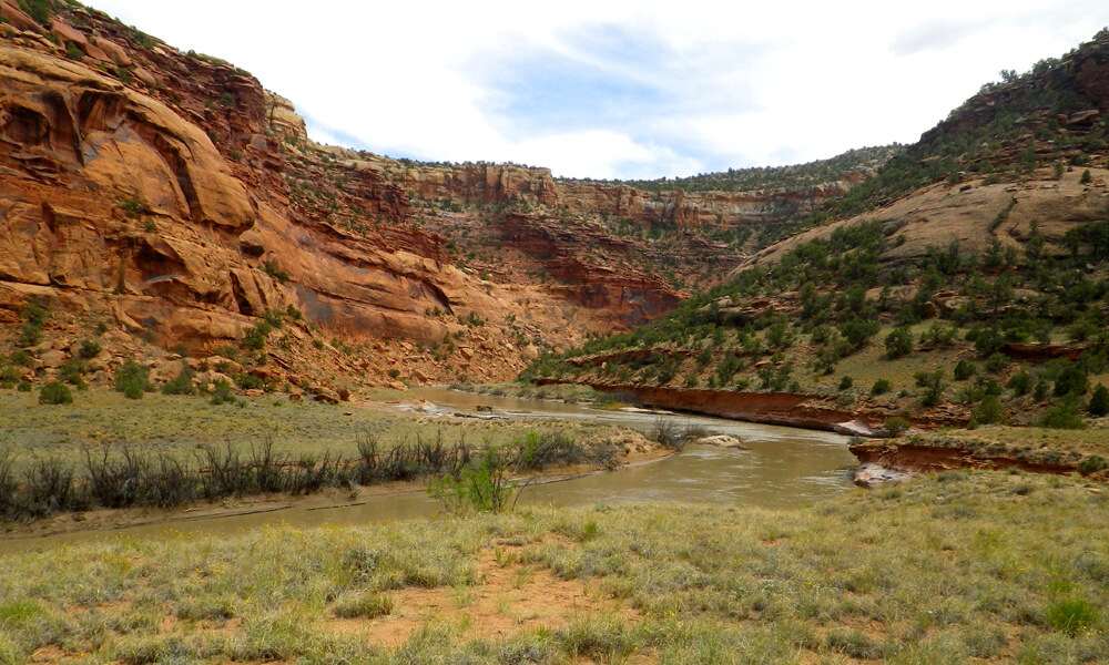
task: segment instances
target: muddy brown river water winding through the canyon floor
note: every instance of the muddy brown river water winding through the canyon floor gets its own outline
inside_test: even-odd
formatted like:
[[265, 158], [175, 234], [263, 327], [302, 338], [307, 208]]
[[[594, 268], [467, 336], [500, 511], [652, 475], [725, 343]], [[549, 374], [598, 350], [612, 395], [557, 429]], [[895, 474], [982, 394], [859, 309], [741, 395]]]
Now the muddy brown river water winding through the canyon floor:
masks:
[[[469, 395], [445, 388], [421, 388], [414, 399], [442, 412], [474, 412], [491, 407], [509, 418], [587, 419], [649, 432], [659, 418], [673, 419], [682, 430], [701, 426], [711, 433], [732, 434], [751, 450], [688, 446], [659, 461], [559, 482], [532, 484], [519, 502], [545, 505], [588, 505], [621, 502], [698, 502], [792, 508], [817, 502], [849, 490], [857, 464], [847, 438], [830, 432], [723, 420], [684, 413], [611, 411], [556, 401]], [[228, 534], [263, 524], [294, 526], [366, 524], [434, 515], [439, 507], [424, 492], [362, 498], [356, 503], [291, 503], [266, 512], [160, 521], [111, 531], [84, 531], [28, 539], [0, 536], [0, 552], [49, 548], [103, 539], [141, 538], [166, 532]]]

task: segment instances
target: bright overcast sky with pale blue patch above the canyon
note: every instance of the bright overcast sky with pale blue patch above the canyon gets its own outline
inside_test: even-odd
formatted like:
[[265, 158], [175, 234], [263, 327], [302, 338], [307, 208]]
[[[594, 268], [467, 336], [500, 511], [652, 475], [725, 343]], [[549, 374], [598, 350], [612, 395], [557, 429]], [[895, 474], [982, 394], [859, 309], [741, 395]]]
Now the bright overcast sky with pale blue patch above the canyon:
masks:
[[313, 139], [645, 178], [912, 143], [1109, 24], [1105, 0], [91, 0], [251, 71]]

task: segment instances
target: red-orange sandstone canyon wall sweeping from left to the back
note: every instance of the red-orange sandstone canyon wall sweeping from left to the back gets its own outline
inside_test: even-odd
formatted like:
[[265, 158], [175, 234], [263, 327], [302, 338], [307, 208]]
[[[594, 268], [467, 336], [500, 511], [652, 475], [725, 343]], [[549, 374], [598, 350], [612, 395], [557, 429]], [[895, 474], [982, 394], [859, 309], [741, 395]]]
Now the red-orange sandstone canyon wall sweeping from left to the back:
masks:
[[0, 17], [8, 386], [126, 358], [325, 398], [508, 378], [662, 316], [866, 175], [685, 194], [396, 161], [77, 2]]

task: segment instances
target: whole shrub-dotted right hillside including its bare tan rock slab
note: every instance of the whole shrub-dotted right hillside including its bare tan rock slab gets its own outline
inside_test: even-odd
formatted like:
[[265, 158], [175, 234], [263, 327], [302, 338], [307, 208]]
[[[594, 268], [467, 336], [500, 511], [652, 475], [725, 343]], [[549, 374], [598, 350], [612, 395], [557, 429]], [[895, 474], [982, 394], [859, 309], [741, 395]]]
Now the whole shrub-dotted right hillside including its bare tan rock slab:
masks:
[[1007, 79], [721, 286], [526, 376], [815, 427], [1080, 426], [1109, 360], [1109, 32]]

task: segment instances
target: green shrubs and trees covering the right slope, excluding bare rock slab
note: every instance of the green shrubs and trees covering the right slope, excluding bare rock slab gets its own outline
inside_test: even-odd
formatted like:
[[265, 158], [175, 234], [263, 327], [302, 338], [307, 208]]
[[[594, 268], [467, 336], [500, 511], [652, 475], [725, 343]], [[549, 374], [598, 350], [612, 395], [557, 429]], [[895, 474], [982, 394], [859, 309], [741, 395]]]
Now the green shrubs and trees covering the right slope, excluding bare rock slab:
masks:
[[[1083, 47], [1101, 48], [1109, 42]], [[1107, 125], [1096, 112], [1060, 120], [1090, 106], [1059, 82], [1068, 66], [1068, 59], [1038, 65], [999, 98], [989, 89], [989, 104], [980, 104], [988, 119], [948, 121], [810, 223], [936, 181], [1077, 181], [1069, 165], [1105, 161]], [[1083, 172], [1081, 180], [1090, 186], [1092, 177]], [[973, 423], [1081, 427], [1087, 409], [1101, 415], [1088, 396], [1109, 366], [1109, 209], [1103, 222], [1064, 226], [1051, 237], [1034, 221], [1019, 243], [995, 237], [979, 255], [953, 242], [913, 260], [898, 258], [903, 226], [840, 225], [794, 242], [658, 321], [546, 356], [522, 376], [816, 393], [838, 408], [943, 412]]]

